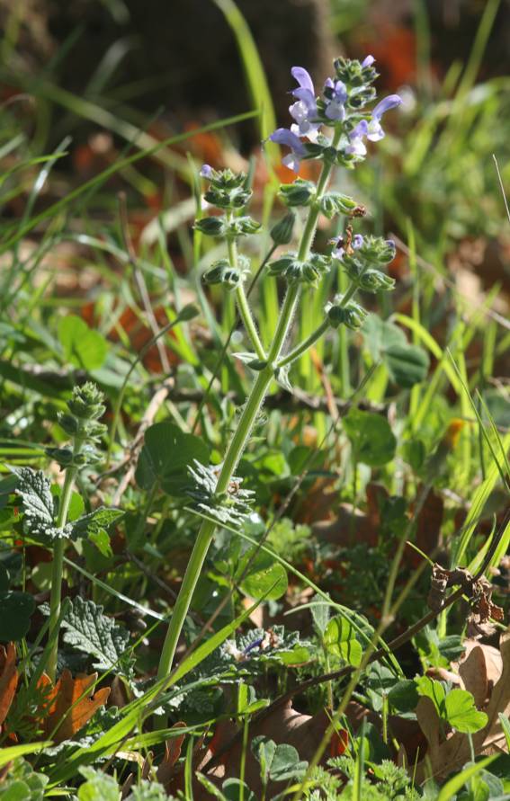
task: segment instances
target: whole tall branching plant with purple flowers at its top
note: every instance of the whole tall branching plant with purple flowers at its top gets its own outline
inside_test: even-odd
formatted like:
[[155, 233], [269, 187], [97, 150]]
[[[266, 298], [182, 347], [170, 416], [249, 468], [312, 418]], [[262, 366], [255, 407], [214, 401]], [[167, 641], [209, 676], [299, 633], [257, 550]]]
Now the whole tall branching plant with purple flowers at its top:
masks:
[[[159, 663], [159, 679], [164, 679], [172, 669], [175, 648], [216, 527], [220, 521], [228, 520], [229, 512], [235, 512], [238, 520], [240, 482], [234, 480], [233, 475], [272, 382], [276, 380], [288, 386], [287, 374], [291, 363], [328, 329], [337, 329], [339, 325], [356, 329], [362, 325], [366, 312], [353, 299], [359, 290], [379, 292], [393, 288], [394, 281], [384, 268], [392, 260], [395, 246], [380, 237], [353, 234], [352, 221], [361, 217], [364, 209], [352, 198], [329, 189], [336, 168], [352, 169], [367, 155], [366, 142], [376, 142], [384, 137], [382, 117], [401, 102], [397, 94], [392, 94], [372, 105], [376, 97], [372, 84], [377, 78], [373, 64], [371, 56], [362, 62], [336, 59], [335, 75], [327, 78], [319, 95], [307, 70], [292, 67], [291, 74], [298, 84], [292, 90], [294, 102], [290, 112], [293, 121], [290, 129], [279, 128], [270, 139], [289, 148], [283, 163], [296, 173], [300, 162], [307, 159], [321, 162], [322, 169], [317, 183], [298, 178], [280, 189], [282, 202], [290, 212], [303, 209], [305, 219], [298, 247], [279, 254], [267, 267], [271, 275], [286, 283], [280, 315], [267, 350], [246, 297], [245, 284], [251, 275], [249, 259], [238, 252], [243, 237], [255, 234], [261, 228], [246, 213], [251, 196], [246, 176], [230, 170], [217, 171], [210, 165], [201, 168], [201, 177], [207, 183], [204, 199], [219, 213], [201, 218], [195, 225], [205, 236], [213, 236], [226, 245], [226, 255], [212, 264], [203, 280], [221, 284], [234, 293], [252, 348], [245, 361], [253, 369], [255, 380], [222, 464], [205, 468], [206, 475], [192, 466], [192, 478], [197, 483], [193, 496], [201, 498], [202, 509], [205, 506], [210, 510], [210, 520], [201, 523], [174, 605]], [[329, 219], [343, 215], [349, 221], [346, 235], [328, 255], [318, 254], [312, 249], [320, 214]], [[293, 223], [293, 213], [283, 218], [280, 229], [276, 231], [278, 236], [273, 237], [275, 244], [291, 242]], [[317, 287], [330, 271], [344, 271], [347, 288], [342, 295], [327, 303], [324, 321], [316, 331], [302, 342], [288, 345], [292, 318], [303, 287]]]

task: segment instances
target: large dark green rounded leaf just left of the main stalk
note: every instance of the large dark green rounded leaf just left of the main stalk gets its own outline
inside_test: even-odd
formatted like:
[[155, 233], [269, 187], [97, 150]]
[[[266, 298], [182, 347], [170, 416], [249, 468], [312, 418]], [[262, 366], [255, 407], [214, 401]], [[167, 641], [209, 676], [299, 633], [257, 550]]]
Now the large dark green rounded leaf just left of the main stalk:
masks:
[[136, 470], [137, 483], [145, 490], [157, 483], [168, 494], [181, 494], [190, 484], [187, 468], [193, 459], [202, 465], [209, 462], [205, 442], [183, 433], [174, 423], [155, 423], [145, 432]]

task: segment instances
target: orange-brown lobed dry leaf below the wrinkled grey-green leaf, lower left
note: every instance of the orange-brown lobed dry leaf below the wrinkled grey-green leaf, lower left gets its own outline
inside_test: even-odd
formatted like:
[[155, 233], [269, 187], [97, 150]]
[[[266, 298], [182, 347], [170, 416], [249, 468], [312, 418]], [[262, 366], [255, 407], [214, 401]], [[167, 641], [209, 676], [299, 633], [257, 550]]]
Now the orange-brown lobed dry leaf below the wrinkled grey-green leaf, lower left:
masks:
[[[70, 740], [88, 723], [94, 712], [104, 706], [110, 688], [103, 687], [93, 696], [95, 681], [97, 673], [78, 675], [73, 679], [69, 671], [62, 671], [57, 684], [49, 690], [45, 704], [46, 714], [42, 725], [48, 739], [56, 743]], [[43, 678], [42, 683], [50, 683], [48, 676]]]

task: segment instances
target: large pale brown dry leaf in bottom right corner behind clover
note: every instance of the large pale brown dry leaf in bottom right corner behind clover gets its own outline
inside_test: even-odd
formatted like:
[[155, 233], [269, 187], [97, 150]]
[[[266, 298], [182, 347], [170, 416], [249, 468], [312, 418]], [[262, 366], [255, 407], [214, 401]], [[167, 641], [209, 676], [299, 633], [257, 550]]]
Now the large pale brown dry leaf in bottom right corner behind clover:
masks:
[[[488, 723], [479, 732], [471, 735], [472, 746], [477, 756], [507, 751], [505, 733], [498, 716], [501, 713], [510, 715], [510, 627], [501, 636], [499, 648], [503, 669], [484, 708]], [[479, 654], [475, 659], [479, 659]], [[472, 679], [471, 667], [465, 675], [469, 681]], [[441, 742], [439, 718], [430, 699], [419, 700], [416, 717], [429, 745], [425, 759], [416, 766], [418, 781], [425, 779], [430, 771], [434, 779], [443, 779], [452, 770], [458, 770], [470, 760], [471, 745], [467, 734], [455, 732]]]

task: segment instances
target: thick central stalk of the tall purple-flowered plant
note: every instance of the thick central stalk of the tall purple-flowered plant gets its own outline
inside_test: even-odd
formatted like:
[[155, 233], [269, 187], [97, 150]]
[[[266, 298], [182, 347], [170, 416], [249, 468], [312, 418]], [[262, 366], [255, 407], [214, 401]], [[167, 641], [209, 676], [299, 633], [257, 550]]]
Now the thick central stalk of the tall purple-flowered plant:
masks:
[[[339, 137], [340, 133], [338, 133], [334, 139], [333, 147], [336, 147], [338, 144]], [[331, 169], [332, 165], [327, 163], [325, 163], [322, 167], [322, 172], [318, 180], [317, 199], [321, 197], [327, 186]], [[318, 213], [318, 203], [316, 203], [309, 209], [309, 216], [301, 237], [300, 249], [298, 253], [298, 258], [301, 261], [304, 261], [309, 255], [309, 249], [313, 243], [317, 228]], [[292, 317], [294, 315], [299, 296], [299, 283], [291, 284], [287, 290], [287, 294], [282, 304], [280, 317], [276, 326], [276, 331], [274, 332], [273, 344], [267, 356], [267, 367], [259, 372], [255, 380], [255, 384], [252, 387], [243, 413], [239, 419], [237, 431], [235, 432], [228, 446], [225, 460], [219, 474], [218, 485], [216, 487], [217, 494], [222, 494], [228, 491], [228, 485], [234, 470], [236, 469], [237, 462], [241, 458], [246, 447], [246, 441], [252, 432], [257, 414], [264, 403], [264, 398], [273, 379], [273, 369], [276, 361], [278, 360], [280, 352], [282, 351], [287, 334], [289, 333]], [[217, 523], [213, 521], [203, 521], [201, 524], [201, 528], [192, 549], [190, 561], [188, 562], [186, 571], [184, 573], [181, 590], [177, 596], [177, 601], [175, 601], [172, 617], [170, 618], [168, 629], [166, 631], [165, 643], [163, 645], [163, 650], [161, 652], [161, 657], [157, 668], [158, 680], [168, 676], [172, 670], [175, 649], [177, 647], [179, 637], [181, 636], [184, 620], [186, 619], [186, 615], [192, 601], [192, 595], [201, 574], [201, 568], [205, 561], [205, 557], [207, 556], [207, 552], [209, 551], [210, 543], [216, 528]]]

